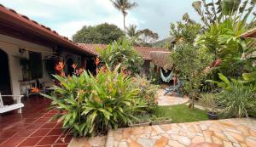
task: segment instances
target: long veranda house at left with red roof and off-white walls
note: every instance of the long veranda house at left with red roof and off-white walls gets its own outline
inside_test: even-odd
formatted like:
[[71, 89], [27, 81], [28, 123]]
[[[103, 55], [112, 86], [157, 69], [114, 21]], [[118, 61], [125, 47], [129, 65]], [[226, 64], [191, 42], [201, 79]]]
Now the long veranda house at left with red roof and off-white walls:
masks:
[[50, 82], [60, 60], [67, 74], [73, 72], [73, 63], [93, 71], [94, 58], [90, 50], [0, 4], [1, 93], [27, 94], [38, 82]]

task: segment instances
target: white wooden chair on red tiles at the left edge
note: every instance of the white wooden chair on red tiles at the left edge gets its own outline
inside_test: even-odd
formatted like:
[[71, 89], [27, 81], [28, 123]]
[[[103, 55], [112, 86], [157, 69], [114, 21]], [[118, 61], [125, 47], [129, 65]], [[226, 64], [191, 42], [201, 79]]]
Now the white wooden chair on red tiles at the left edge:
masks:
[[[16, 97], [17, 103], [14, 105], [3, 105], [2, 97]], [[18, 110], [18, 113], [21, 113], [21, 108], [24, 107], [23, 103], [21, 103], [21, 98], [23, 95], [1, 95], [0, 93], [0, 114], [4, 112], [8, 112], [10, 110]]]

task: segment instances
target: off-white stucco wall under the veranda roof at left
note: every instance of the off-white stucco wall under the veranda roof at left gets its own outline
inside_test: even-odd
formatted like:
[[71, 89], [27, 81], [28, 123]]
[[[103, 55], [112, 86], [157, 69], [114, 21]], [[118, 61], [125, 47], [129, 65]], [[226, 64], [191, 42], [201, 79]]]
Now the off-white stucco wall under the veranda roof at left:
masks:
[[[45, 56], [52, 54], [51, 48], [46, 48], [32, 42], [26, 42], [0, 34], [0, 49], [9, 56], [10, 83], [13, 94], [20, 94], [19, 81], [22, 80], [22, 66], [20, 65], [20, 58], [28, 59], [28, 52], [26, 51], [24, 54], [20, 54], [19, 48], [26, 48], [27, 51], [41, 53], [42, 59], [44, 59]], [[43, 62], [43, 78], [40, 79], [40, 81], [48, 81], [48, 79], [48, 74], [44, 68]]]

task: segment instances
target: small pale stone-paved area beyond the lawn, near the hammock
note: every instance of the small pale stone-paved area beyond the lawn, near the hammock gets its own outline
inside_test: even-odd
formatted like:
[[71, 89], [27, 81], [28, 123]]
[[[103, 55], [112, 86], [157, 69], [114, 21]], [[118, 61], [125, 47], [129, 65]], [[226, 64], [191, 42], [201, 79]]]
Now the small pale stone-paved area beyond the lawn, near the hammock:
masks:
[[158, 105], [181, 105], [189, 101], [189, 98], [178, 97], [177, 95], [174, 95], [172, 93], [167, 93], [166, 95], [164, 95], [164, 93], [164, 89], [158, 90]]

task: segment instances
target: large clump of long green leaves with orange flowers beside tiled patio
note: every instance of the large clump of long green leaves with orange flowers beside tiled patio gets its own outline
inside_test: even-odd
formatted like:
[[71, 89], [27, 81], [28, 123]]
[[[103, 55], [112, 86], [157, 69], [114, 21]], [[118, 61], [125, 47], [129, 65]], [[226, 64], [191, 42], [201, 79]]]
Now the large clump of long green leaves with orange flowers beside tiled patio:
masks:
[[137, 99], [137, 88], [131, 88], [131, 78], [118, 72], [99, 70], [96, 77], [87, 72], [73, 76], [55, 76], [61, 86], [55, 93], [44, 95], [52, 99], [52, 107], [63, 113], [55, 115], [63, 128], [74, 136], [94, 136], [109, 128], [128, 126], [134, 114], [146, 104]]

